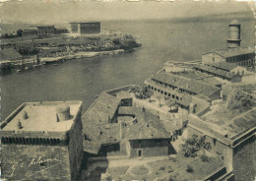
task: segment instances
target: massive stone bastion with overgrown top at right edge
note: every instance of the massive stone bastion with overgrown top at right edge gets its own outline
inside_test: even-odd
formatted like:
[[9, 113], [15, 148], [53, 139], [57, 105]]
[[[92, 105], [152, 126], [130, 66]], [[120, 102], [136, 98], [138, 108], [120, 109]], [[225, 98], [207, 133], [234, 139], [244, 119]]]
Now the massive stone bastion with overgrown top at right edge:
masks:
[[211, 152], [222, 156], [225, 180], [254, 179], [255, 100], [250, 92], [233, 90], [226, 100], [189, 114], [188, 138], [203, 136]]

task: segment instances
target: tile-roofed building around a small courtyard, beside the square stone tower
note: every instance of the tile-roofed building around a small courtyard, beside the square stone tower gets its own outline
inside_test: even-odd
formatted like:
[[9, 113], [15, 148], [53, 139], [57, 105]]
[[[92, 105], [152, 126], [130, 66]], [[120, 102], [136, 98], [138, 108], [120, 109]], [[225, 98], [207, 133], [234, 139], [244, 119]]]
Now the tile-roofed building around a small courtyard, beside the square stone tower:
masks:
[[127, 96], [99, 94], [82, 118], [84, 151], [92, 157], [152, 157], [173, 152], [172, 133], [160, 117], [132, 102]]

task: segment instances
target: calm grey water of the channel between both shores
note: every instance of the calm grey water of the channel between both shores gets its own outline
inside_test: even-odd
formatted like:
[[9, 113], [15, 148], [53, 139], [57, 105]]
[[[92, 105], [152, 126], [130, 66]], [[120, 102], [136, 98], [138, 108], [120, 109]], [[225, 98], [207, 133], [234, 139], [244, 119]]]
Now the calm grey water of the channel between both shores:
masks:
[[[139, 35], [142, 47], [121, 55], [72, 60], [1, 76], [1, 117], [28, 101], [78, 99], [85, 112], [100, 91], [143, 84], [166, 61], [195, 60], [204, 52], [225, 48], [230, 20], [103, 22], [103, 29]], [[241, 38], [242, 46], [253, 45], [251, 19], [242, 22]]]

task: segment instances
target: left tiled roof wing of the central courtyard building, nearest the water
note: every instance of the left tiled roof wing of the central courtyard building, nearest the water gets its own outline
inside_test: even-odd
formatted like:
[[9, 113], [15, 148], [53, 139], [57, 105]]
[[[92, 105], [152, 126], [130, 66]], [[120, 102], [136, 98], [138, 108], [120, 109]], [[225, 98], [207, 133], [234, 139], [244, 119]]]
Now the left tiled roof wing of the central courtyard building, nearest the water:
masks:
[[119, 103], [120, 98], [102, 92], [82, 117], [83, 133], [90, 140], [84, 140], [85, 151], [96, 153], [100, 149], [98, 144], [111, 144], [120, 141], [118, 123], [108, 123], [108, 119], [113, 117]]

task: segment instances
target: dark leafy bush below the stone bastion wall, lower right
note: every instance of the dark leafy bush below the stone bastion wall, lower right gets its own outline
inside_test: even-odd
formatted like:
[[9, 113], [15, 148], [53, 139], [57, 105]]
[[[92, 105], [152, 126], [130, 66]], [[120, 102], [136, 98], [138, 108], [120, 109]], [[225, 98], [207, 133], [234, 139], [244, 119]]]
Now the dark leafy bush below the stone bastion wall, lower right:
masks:
[[206, 143], [205, 137], [198, 138], [197, 135], [193, 135], [191, 139], [186, 140], [186, 143], [182, 145], [182, 150], [185, 157], [196, 157], [198, 151], [211, 150], [211, 145]]

